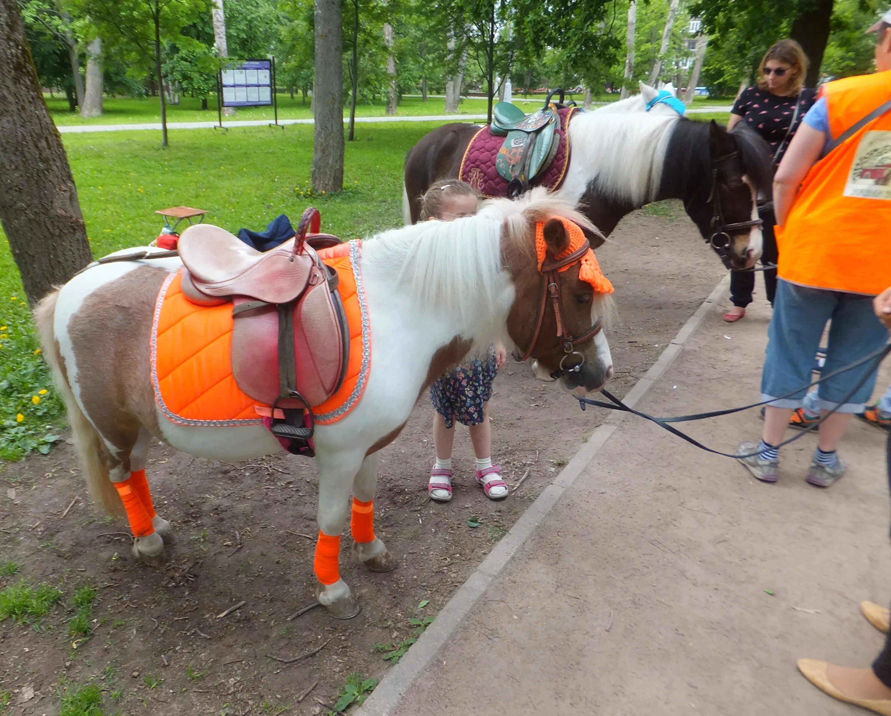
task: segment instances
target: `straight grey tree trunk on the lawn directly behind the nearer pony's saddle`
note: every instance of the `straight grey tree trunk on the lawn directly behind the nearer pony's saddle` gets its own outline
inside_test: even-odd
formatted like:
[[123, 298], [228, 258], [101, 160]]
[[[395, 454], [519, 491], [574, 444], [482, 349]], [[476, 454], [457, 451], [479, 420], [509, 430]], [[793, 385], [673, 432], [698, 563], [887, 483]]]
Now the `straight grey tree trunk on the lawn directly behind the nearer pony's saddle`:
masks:
[[340, 0], [315, 0], [313, 191], [330, 193], [343, 189], [342, 58], [343, 21]]

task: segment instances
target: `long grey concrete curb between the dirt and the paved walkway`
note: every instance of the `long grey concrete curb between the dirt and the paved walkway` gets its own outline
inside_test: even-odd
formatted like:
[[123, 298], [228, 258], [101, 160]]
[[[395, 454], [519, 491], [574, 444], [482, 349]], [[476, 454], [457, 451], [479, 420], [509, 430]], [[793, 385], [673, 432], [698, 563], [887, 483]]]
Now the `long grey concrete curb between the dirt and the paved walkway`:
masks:
[[[684, 343], [699, 329], [706, 314], [716, 302], [720, 301], [730, 287], [730, 274], [728, 273], [715, 286], [705, 301], [699, 305], [690, 319], [683, 324], [681, 330], [669, 342], [666, 349], [659, 355], [650, 370], [634, 384], [634, 387], [625, 395], [624, 402], [629, 407], [640, 402], [658, 378], [661, 378], [674, 359], [681, 353]], [[526, 543], [535, 527], [547, 517], [563, 492], [576, 481], [582, 470], [593, 459], [594, 455], [609, 440], [617, 428], [619, 420], [625, 419], [619, 413], [613, 413], [608, 419], [597, 427], [587, 442], [569, 460], [568, 465], [560, 471], [560, 475], [549, 484], [535, 499], [517, 522], [511, 527], [511, 531], [495, 545], [495, 549], [489, 552], [486, 559], [470, 574], [467, 582], [454, 593], [446, 606], [437, 614], [436, 621], [430, 624], [427, 631], [421, 635], [421, 639], [408, 650], [396, 666], [392, 667], [380, 680], [380, 684], [374, 689], [372, 696], [356, 710], [356, 716], [391, 716], [396, 707], [412, 686], [421, 671], [437, 655], [438, 651], [446, 645], [446, 641], [458, 629], [464, 617], [477, 603], [483, 592], [495, 577], [502, 572], [519, 549]]]

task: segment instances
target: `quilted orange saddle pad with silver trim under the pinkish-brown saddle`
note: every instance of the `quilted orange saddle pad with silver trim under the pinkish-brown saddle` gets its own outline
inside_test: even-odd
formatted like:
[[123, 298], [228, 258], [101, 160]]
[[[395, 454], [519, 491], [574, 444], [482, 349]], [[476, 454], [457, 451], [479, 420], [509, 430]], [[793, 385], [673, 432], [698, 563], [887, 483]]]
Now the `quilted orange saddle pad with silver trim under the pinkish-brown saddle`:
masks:
[[[349, 323], [349, 362], [337, 393], [313, 405], [316, 424], [343, 418], [362, 398], [371, 370], [371, 325], [359, 271], [361, 242], [318, 252], [339, 274]], [[233, 305], [202, 306], [183, 295], [181, 273], [161, 287], [151, 330], [151, 384], [161, 412], [180, 425], [222, 427], [262, 424], [271, 406], [238, 386], [232, 370]]]

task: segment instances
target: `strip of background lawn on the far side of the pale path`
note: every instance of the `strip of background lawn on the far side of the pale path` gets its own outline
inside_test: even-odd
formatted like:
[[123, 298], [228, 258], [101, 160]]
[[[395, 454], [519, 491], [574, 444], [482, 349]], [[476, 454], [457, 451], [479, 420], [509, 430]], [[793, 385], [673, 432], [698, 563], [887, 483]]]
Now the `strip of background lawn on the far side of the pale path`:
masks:
[[[580, 95], [572, 95], [576, 102], [581, 103]], [[45, 95], [46, 104], [50, 108], [53, 120], [59, 126], [68, 125], [127, 125], [141, 124], [145, 122], [160, 121], [160, 107], [157, 97], [106, 97], [103, 102], [104, 112], [102, 117], [85, 119], [77, 112], [68, 110], [68, 102], [62, 97], [51, 98]], [[596, 98], [596, 102], [615, 102], [616, 94], [604, 94]], [[306, 104], [300, 99], [299, 94], [293, 100], [289, 94], [279, 93], [279, 118], [281, 119], [309, 119], [312, 113], [309, 110], [309, 102]], [[514, 102], [524, 110], [536, 109], [544, 102], [544, 96], [520, 98], [514, 97]], [[696, 97], [693, 100], [694, 107], [708, 107], [729, 103], [729, 100], [715, 100], [707, 97]], [[442, 97], [429, 97], [427, 102], [422, 102], [421, 97], [404, 97], [399, 104], [398, 115], [403, 117], [421, 117], [423, 115], [441, 115], [446, 111], [446, 100]], [[212, 122], [217, 120], [216, 99], [209, 103], [210, 109], [201, 110], [201, 101], [192, 97], [183, 97], [179, 104], [168, 106], [168, 122]], [[385, 114], [383, 102], [373, 104], [360, 104], [356, 107], [356, 117], [383, 117]], [[461, 101], [462, 114], [486, 114], [486, 100], [478, 97], [463, 99]], [[348, 109], [345, 110], [348, 116]], [[273, 119], [271, 107], [247, 107], [237, 110], [230, 119]]]

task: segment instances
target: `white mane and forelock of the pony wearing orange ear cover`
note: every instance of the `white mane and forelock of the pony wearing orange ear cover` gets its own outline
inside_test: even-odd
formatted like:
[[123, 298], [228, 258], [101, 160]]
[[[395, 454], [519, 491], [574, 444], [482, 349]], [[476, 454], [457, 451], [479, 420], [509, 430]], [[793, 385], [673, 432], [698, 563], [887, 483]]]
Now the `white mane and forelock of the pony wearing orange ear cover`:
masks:
[[[503, 321], [514, 298], [502, 263], [502, 238], [519, 240], [548, 216], [566, 216], [596, 231], [575, 207], [535, 189], [513, 201], [486, 201], [474, 216], [377, 234], [363, 244], [363, 260], [407, 286], [413, 301], [454, 316], [464, 338], [488, 346], [496, 338], [505, 340]], [[526, 244], [534, 256], [533, 243]]]

